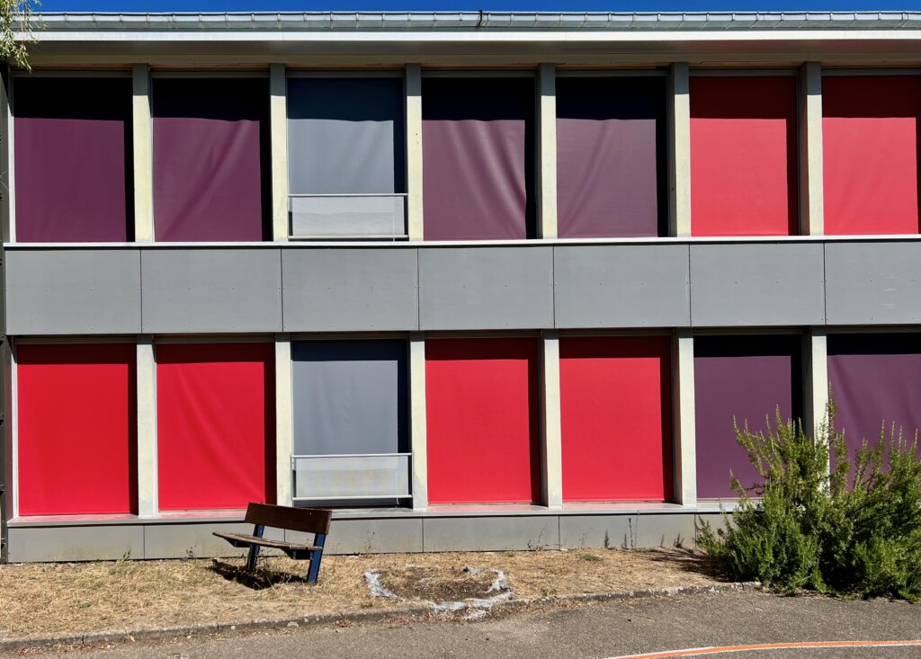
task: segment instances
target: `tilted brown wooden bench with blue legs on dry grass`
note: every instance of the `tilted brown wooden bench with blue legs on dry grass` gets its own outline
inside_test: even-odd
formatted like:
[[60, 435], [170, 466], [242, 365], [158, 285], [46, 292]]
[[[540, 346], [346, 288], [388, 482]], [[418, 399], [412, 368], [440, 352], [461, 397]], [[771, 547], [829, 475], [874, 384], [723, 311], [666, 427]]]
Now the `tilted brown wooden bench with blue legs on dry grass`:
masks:
[[[245, 533], [215, 533], [218, 538], [224, 538], [234, 547], [250, 548], [250, 558], [246, 561], [246, 569], [252, 572], [256, 569], [256, 560], [259, 558], [259, 549], [281, 549], [295, 561], [310, 561], [307, 572], [307, 583], [316, 584], [320, 576], [320, 561], [323, 558], [323, 545], [326, 536], [330, 533], [332, 510], [321, 508], [289, 508], [284, 505], [269, 505], [267, 503], [250, 503], [246, 509], [247, 524], [255, 527], [252, 535]], [[266, 526], [272, 528], [285, 528], [289, 531], [303, 531], [314, 534], [313, 544], [300, 542], [285, 542], [262, 538]]]

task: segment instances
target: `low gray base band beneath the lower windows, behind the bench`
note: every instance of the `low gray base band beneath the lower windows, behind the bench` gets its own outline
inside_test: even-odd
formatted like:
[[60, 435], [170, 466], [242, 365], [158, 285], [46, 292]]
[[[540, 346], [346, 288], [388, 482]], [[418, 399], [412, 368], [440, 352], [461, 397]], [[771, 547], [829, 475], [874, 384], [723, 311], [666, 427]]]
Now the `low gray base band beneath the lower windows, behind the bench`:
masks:
[[[694, 546], [694, 525], [718, 525], [719, 514], [542, 514], [405, 516], [334, 519], [326, 548], [333, 554], [513, 549]], [[240, 522], [9, 526], [8, 561], [99, 561], [122, 557], [177, 559], [240, 556], [214, 531], [251, 533]], [[304, 534], [266, 529], [267, 538]]]

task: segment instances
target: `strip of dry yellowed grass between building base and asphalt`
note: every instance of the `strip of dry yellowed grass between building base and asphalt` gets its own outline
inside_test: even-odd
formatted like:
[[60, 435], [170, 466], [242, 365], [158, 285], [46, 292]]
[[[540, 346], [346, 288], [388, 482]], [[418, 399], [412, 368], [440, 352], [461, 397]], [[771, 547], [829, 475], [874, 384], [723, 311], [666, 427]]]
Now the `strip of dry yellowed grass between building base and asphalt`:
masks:
[[316, 586], [304, 583], [306, 562], [262, 559], [255, 576], [242, 575], [242, 565], [242, 559], [0, 565], [0, 638], [405, 606], [372, 597], [362, 576], [367, 570], [425, 569], [442, 582], [458, 579], [465, 566], [502, 570], [521, 598], [719, 581], [711, 564], [681, 549], [329, 556]]

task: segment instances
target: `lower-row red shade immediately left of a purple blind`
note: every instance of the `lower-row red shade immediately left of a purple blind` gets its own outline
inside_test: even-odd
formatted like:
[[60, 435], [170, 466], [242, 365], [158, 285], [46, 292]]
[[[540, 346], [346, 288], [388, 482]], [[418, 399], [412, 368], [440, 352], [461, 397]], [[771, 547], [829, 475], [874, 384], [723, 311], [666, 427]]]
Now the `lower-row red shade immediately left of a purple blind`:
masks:
[[668, 337], [560, 341], [564, 501], [671, 499]]

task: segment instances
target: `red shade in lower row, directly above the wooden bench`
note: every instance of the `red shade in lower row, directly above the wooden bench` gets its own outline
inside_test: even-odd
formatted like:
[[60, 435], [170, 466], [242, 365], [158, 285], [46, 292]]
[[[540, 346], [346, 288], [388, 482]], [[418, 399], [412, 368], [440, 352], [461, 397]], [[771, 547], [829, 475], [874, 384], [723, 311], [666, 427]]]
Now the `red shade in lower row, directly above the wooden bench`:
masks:
[[274, 502], [274, 344], [157, 346], [160, 510]]

